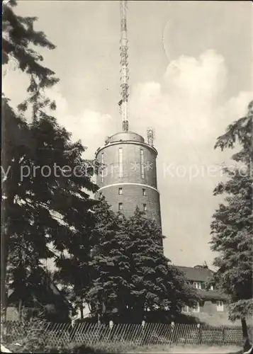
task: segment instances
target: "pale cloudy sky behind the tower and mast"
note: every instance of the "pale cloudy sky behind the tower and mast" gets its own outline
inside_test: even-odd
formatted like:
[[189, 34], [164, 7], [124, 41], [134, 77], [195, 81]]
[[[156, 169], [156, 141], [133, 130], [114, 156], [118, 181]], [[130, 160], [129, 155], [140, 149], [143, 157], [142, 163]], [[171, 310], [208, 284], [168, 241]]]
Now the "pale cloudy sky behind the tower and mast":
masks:
[[[93, 158], [121, 130], [118, 1], [19, 1], [57, 48], [40, 50], [60, 83], [50, 90], [60, 125]], [[253, 98], [251, 1], [128, 1], [130, 130], [155, 130], [164, 253], [177, 265], [212, 265], [213, 188], [232, 152], [215, 150]], [[28, 79], [13, 63], [3, 91], [13, 105]], [[17, 89], [18, 88], [18, 89]]]

